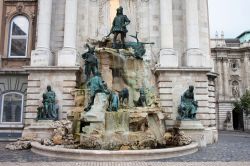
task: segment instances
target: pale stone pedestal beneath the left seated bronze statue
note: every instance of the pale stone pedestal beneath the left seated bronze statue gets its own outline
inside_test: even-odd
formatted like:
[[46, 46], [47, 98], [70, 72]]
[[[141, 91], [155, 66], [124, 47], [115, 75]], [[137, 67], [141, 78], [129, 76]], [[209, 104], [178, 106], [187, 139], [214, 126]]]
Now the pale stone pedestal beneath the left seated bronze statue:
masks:
[[24, 128], [22, 138], [28, 140], [41, 140], [43, 138], [51, 138], [55, 129], [52, 120], [38, 120], [30, 126]]

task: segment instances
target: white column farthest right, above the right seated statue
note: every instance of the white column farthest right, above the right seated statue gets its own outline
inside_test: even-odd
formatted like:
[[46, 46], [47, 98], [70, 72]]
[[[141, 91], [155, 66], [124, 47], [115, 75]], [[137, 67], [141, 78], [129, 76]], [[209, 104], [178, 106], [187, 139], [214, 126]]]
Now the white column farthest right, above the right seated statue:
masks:
[[187, 66], [205, 67], [200, 51], [198, 0], [186, 0]]

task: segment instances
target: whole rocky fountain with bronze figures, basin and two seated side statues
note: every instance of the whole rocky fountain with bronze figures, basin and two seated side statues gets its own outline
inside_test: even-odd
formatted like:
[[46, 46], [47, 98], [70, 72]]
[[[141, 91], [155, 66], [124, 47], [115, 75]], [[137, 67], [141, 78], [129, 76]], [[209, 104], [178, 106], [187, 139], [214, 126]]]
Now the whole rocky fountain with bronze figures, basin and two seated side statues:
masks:
[[[75, 109], [67, 120], [56, 121], [55, 93], [48, 86], [38, 121], [51, 121], [48, 138], [32, 143], [32, 151], [58, 157], [93, 160], [143, 160], [180, 156], [197, 151], [178, 128], [166, 128], [156, 87], [145, 77], [145, 44], [139, 33], [125, 42], [129, 18], [117, 9], [110, 33], [85, 46], [84, 81], [72, 91]], [[110, 36], [113, 35], [113, 39]], [[118, 40], [120, 37], [120, 40]], [[178, 120], [195, 119], [198, 103], [190, 86], [180, 97]]]

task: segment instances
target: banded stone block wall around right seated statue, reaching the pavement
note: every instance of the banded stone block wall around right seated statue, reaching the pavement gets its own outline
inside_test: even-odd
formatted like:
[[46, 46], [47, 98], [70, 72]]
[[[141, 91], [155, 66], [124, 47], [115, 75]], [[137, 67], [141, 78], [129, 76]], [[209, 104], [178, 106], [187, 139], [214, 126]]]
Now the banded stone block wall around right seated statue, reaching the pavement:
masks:
[[[215, 77], [207, 76], [209, 70], [209, 68], [158, 68], [155, 72], [161, 105], [165, 112], [171, 114], [172, 121], [175, 121], [178, 116], [181, 95], [190, 85], [194, 85], [194, 98], [198, 101], [196, 118], [205, 127], [206, 143], [211, 144], [217, 141], [218, 133], [215, 113]], [[170, 122], [166, 123], [170, 124]]]

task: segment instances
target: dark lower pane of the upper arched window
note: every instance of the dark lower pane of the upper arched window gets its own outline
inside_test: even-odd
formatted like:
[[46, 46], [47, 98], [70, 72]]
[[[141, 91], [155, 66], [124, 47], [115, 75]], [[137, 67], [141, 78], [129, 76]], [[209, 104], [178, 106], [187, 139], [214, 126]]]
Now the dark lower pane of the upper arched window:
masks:
[[26, 53], [26, 39], [12, 39], [10, 56], [25, 56]]

